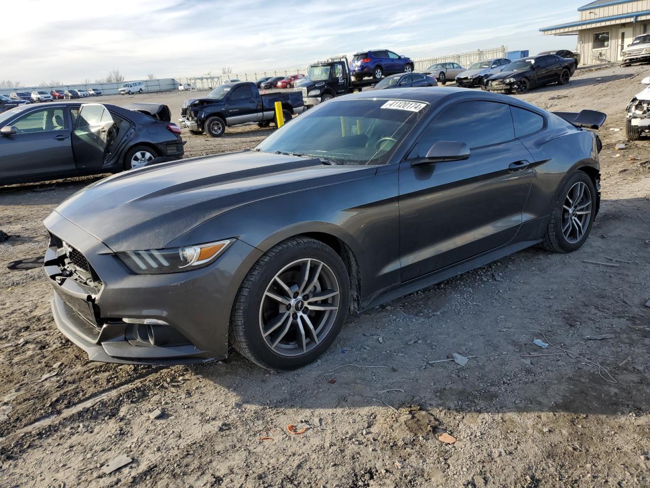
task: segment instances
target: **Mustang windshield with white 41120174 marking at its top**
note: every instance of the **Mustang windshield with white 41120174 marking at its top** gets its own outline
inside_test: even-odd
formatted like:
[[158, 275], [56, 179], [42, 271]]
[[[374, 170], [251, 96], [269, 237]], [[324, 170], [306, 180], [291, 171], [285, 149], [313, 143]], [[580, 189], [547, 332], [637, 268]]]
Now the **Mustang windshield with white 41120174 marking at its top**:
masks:
[[255, 150], [342, 165], [382, 165], [428, 108], [428, 103], [408, 100], [324, 103], [275, 131]]

